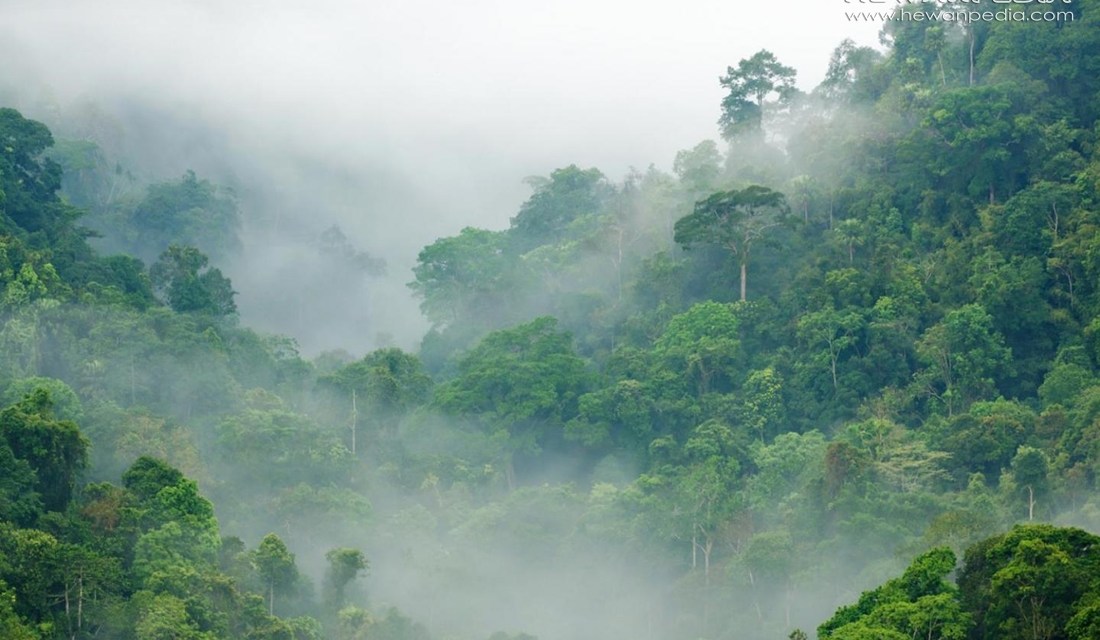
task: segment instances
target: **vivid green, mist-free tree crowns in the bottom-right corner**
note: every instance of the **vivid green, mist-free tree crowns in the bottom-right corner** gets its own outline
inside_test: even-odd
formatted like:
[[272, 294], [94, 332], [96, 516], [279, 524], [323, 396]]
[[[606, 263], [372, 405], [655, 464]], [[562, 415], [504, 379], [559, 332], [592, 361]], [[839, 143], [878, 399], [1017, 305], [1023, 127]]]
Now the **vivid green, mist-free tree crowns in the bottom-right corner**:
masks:
[[920, 555], [901, 577], [865, 592], [817, 628], [822, 640], [1064, 638], [1100, 635], [1100, 537], [1049, 525], [1019, 526], [966, 552]]

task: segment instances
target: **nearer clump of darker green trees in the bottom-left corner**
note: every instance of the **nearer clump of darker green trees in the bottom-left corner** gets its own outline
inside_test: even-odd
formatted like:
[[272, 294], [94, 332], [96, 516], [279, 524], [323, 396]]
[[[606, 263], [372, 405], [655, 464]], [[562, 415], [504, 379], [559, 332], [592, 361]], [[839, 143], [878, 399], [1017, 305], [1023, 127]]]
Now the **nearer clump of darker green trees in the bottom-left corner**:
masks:
[[[123, 474], [124, 488], [88, 485], [76, 504], [66, 485], [87, 442], [72, 422], [53, 420], [47, 393], [26, 395], [0, 413], [0, 424], [4, 638], [319, 640], [316, 620], [278, 620], [264, 613], [258, 596], [217, 573], [213, 506], [179, 471], [142, 457]], [[58, 504], [43, 505], [40, 493]], [[30, 526], [37, 529], [18, 528]], [[280, 561], [289, 556], [293, 569], [293, 555], [280, 544], [265, 541], [255, 559], [257, 573], [274, 576], [285, 593], [288, 571]]]

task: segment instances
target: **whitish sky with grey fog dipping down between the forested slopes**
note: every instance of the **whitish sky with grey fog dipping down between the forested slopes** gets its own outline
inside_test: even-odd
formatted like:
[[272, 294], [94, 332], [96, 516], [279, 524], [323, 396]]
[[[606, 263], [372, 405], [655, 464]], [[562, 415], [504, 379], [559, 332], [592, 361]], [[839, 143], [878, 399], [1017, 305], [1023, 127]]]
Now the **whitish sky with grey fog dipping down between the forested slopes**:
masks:
[[[526, 176], [670, 169], [717, 136], [717, 79], [760, 48], [813, 88], [843, 38], [877, 42], [880, 25], [846, 20], [853, 7], [0, 0], [0, 88], [172, 114], [166, 125], [204, 133], [163, 158], [168, 175], [231, 156], [252, 188], [339, 221], [403, 284], [424, 244], [506, 225]], [[339, 178], [311, 181], [310, 163]]]

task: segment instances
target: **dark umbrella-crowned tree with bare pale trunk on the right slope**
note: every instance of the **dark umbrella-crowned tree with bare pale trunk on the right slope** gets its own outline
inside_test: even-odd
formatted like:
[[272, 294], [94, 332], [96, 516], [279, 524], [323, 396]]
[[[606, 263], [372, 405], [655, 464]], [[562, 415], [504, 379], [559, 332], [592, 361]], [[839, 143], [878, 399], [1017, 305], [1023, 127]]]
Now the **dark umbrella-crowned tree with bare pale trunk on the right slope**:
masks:
[[737, 256], [741, 269], [741, 301], [748, 287], [749, 253], [768, 232], [782, 224], [789, 212], [787, 198], [767, 187], [718, 191], [695, 203], [695, 210], [676, 221], [675, 241], [717, 244]]

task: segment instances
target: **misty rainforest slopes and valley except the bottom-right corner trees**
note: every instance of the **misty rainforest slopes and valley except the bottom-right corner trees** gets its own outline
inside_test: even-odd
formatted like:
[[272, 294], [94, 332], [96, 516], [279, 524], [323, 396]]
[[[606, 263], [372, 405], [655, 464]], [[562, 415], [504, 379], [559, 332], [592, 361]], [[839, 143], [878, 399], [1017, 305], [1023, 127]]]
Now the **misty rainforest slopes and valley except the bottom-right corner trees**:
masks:
[[1094, 637], [1093, 539], [1001, 533], [1100, 527], [1100, 3], [1065, 8], [893, 23], [810, 95], [732, 67], [726, 154], [425, 247], [416, 354], [240, 327], [231, 192], [0, 110], [0, 635], [780, 638], [916, 556], [820, 633]]

